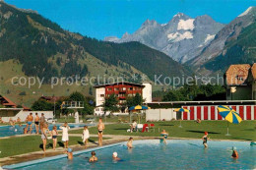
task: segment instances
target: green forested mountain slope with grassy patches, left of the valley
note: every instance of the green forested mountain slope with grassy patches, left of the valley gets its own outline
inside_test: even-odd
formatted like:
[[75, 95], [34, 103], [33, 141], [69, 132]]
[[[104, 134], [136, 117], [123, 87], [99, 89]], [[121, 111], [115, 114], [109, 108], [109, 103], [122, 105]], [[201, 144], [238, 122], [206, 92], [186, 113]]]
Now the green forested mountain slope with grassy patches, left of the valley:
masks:
[[[16, 59], [28, 76], [49, 80], [60, 76], [133, 73], [181, 76], [189, 74], [165, 54], [138, 42], [115, 44], [72, 33], [31, 11], [0, 2], [0, 61]], [[90, 59], [88, 59], [90, 58]], [[96, 67], [90, 67], [89, 61]], [[97, 61], [99, 60], [99, 61]], [[97, 72], [96, 68], [103, 70]], [[103, 68], [103, 69], [102, 69]], [[119, 70], [119, 71], [118, 71]]]

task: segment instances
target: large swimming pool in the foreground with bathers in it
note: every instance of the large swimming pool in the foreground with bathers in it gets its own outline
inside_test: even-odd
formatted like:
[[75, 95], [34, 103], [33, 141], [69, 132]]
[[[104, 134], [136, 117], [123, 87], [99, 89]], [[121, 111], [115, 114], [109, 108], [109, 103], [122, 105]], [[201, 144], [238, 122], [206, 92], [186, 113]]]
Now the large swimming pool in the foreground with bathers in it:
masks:
[[[20, 169], [255, 169], [256, 147], [249, 142], [209, 142], [209, 148], [204, 148], [198, 140], [172, 140], [167, 144], [159, 140], [134, 142], [135, 148], [128, 150], [126, 142], [105, 148], [94, 148], [98, 161], [89, 163], [90, 151], [74, 152], [74, 159], [67, 160], [60, 155], [59, 159], [46, 161], [51, 158], [37, 160], [38, 164], [23, 165]], [[235, 146], [239, 153], [238, 159], [233, 159], [231, 147]], [[118, 152], [122, 161], [112, 161], [113, 151]], [[57, 156], [54, 156], [55, 158]], [[46, 162], [43, 162], [43, 161]], [[41, 163], [43, 162], [43, 163]], [[33, 161], [33, 163], [35, 163]], [[16, 168], [20, 166], [5, 166]]]

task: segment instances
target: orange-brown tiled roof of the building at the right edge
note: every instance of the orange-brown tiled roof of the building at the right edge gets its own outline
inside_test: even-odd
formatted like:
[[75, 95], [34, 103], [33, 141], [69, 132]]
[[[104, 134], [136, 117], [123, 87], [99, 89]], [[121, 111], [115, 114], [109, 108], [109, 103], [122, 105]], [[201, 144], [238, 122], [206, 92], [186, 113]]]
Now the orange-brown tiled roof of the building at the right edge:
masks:
[[[226, 85], [246, 85], [250, 69], [251, 66], [249, 64], [230, 65], [225, 72]], [[256, 74], [254, 75], [256, 76]]]

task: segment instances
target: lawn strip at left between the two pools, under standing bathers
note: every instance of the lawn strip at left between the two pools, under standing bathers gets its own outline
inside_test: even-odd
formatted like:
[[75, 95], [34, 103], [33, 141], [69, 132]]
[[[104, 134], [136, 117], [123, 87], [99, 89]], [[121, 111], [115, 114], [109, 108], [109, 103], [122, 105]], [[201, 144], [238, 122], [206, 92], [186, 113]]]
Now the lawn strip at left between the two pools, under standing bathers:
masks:
[[[96, 142], [97, 138], [90, 138], [89, 142]], [[70, 137], [69, 145], [82, 144], [81, 137]], [[57, 147], [63, 147], [61, 137], [58, 137]], [[46, 149], [52, 148], [52, 140], [47, 141]], [[4, 139], [0, 141], [0, 158], [13, 156], [32, 151], [42, 150], [42, 141], [40, 136], [29, 136], [21, 138]]]

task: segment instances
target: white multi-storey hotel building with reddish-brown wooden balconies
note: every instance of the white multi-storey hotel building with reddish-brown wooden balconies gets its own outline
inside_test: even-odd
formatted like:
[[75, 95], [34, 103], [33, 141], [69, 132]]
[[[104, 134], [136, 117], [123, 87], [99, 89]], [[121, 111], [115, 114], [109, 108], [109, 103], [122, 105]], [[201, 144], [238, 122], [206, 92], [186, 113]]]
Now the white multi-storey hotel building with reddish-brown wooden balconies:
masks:
[[95, 85], [96, 88], [96, 106], [104, 103], [105, 97], [115, 94], [119, 104], [126, 102], [129, 96], [135, 96], [136, 93], [142, 95], [145, 102], [152, 102], [152, 85], [150, 83], [133, 84], [133, 83], [114, 83], [105, 85]]

